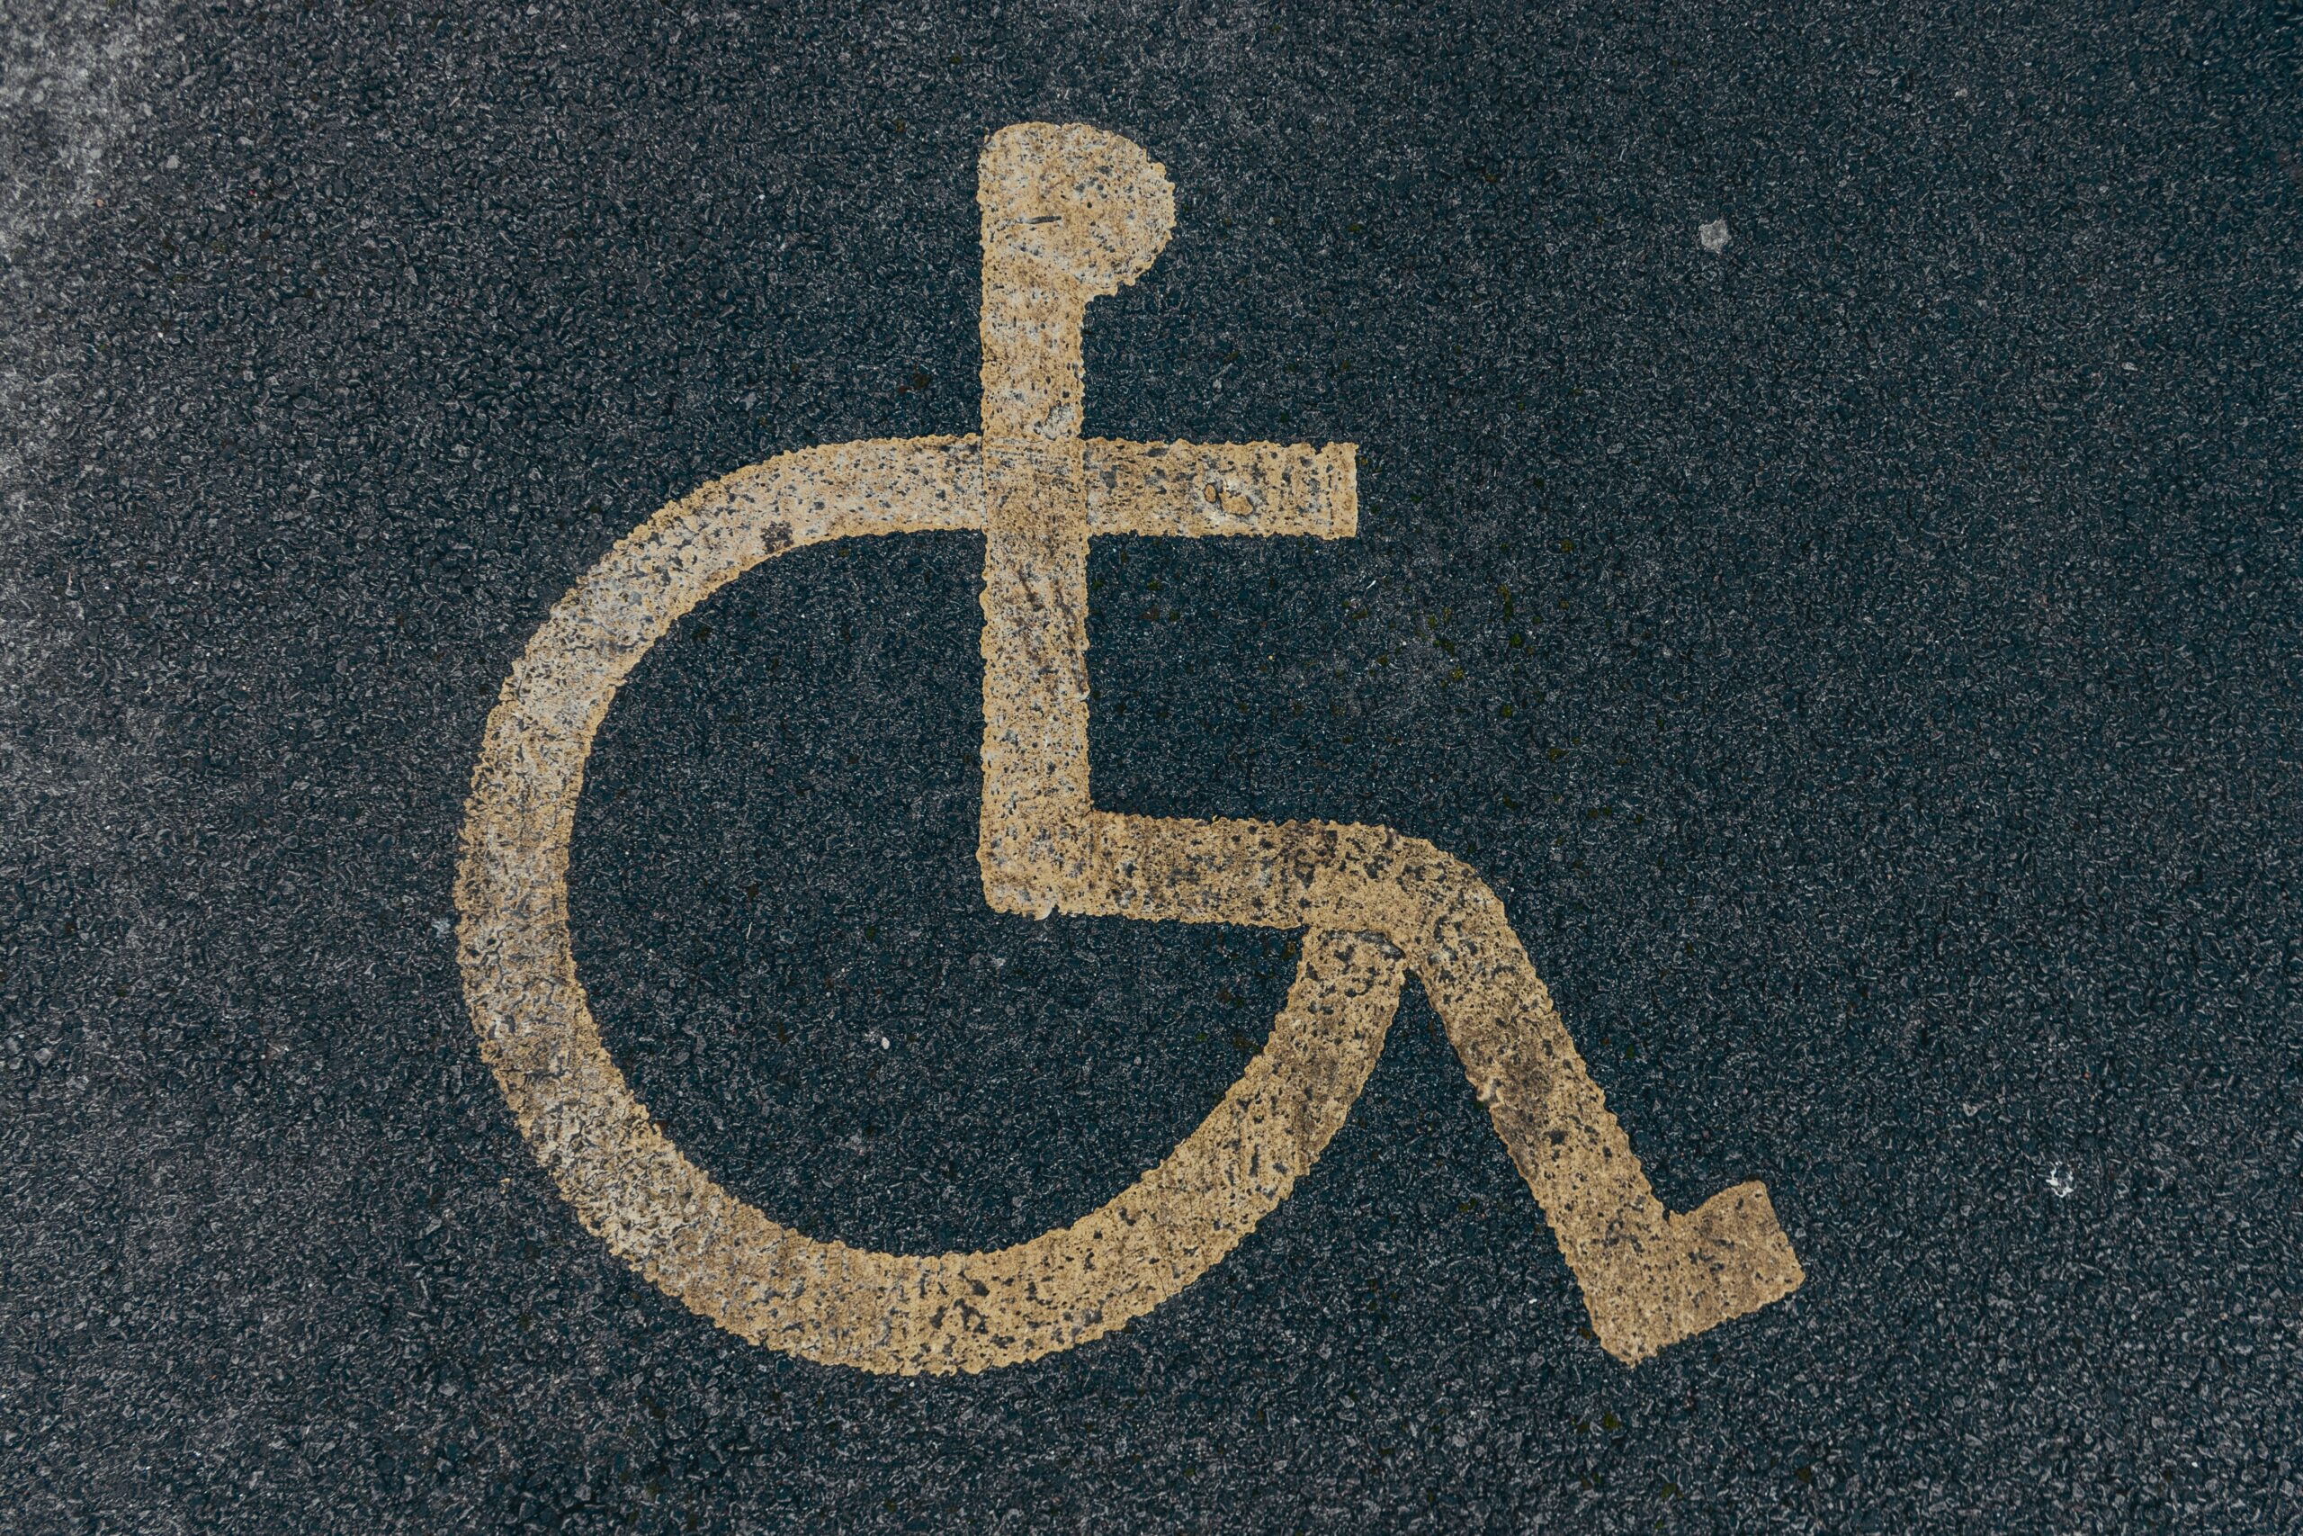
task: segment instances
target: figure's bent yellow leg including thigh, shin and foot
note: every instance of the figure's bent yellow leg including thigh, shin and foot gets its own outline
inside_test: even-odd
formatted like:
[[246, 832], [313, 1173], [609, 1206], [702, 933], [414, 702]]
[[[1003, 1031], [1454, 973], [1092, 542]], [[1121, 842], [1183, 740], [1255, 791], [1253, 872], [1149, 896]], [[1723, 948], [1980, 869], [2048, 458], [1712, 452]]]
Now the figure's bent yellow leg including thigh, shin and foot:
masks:
[[1787, 1297], [1799, 1260], [1762, 1184], [1674, 1216], [1656, 1200], [1495, 894], [1384, 827], [1094, 815], [1078, 910], [1375, 930], [1398, 944], [1621, 1361]]

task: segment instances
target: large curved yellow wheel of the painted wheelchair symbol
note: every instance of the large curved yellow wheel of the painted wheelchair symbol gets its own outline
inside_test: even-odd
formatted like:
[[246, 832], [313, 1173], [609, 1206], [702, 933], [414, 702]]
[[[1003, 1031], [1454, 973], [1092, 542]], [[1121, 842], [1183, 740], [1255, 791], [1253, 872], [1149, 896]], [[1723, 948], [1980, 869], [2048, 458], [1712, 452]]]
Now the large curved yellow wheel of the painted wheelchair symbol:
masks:
[[[979, 530], [956, 438], [848, 442], [737, 470], [666, 504], [553, 606], [488, 714], [456, 870], [458, 960], [481, 1055], [583, 1225], [721, 1329], [827, 1366], [983, 1370], [1069, 1349], [1216, 1267], [1343, 1126], [1398, 1006], [1400, 953], [1313, 930], [1271, 1036], [1135, 1184], [988, 1253], [806, 1237], [721, 1188], [608, 1057], [576, 976], [567, 866], [583, 769], [624, 677], [670, 626], [778, 555], [834, 539]], [[889, 486], [894, 486], [889, 491]]]

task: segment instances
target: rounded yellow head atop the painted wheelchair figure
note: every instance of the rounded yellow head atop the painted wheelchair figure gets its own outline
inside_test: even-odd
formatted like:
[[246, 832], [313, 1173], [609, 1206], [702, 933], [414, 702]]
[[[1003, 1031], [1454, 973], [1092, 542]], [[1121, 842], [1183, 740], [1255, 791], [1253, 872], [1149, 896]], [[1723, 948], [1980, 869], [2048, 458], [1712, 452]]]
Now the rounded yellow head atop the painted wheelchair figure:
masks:
[[1080, 122], [1018, 122], [976, 161], [983, 260], [1027, 260], [1082, 288], [1119, 292], [1175, 228], [1168, 170], [1138, 145]]

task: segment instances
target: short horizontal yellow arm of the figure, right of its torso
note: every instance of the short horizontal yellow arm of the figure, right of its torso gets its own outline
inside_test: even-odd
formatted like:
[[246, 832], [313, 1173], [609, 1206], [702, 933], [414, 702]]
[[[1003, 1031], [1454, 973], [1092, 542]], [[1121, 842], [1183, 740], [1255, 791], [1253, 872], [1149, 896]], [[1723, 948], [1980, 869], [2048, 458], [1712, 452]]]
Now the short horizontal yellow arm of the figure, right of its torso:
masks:
[[1209, 534], [1359, 532], [1354, 444], [1112, 442], [1085, 444], [1087, 532], [1204, 539]]

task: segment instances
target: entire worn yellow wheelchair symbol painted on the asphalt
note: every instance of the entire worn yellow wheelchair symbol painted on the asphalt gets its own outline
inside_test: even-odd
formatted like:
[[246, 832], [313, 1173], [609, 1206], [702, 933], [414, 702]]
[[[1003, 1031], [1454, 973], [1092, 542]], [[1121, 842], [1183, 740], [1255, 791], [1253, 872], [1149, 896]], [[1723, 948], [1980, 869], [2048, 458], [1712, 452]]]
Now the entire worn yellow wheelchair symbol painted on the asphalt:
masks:
[[[1663, 1209], [1467, 866], [1384, 827], [1094, 808], [1089, 537], [1347, 539], [1352, 444], [1082, 440], [1080, 322], [1168, 242], [1168, 175], [1126, 138], [1041, 122], [995, 134], [979, 175], [981, 435], [804, 449], [672, 502], [560, 599], [488, 716], [456, 877], [465, 999], [583, 1225], [719, 1326], [811, 1361], [951, 1372], [1069, 1349], [1175, 1297], [1287, 1197], [1343, 1126], [1412, 972], [1610, 1354], [1637, 1363], [1787, 1297], [1803, 1276], [1766, 1188]], [[983, 532], [986, 900], [1303, 930], [1269, 1043], [1214, 1112], [1112, 1202], [997, 1253], [850, 1248], [723, 1191], [633, 1096], [569, 953], [585, 758], [647, 647], [762, 560], [926, 530]]]

